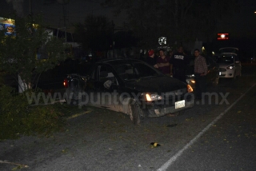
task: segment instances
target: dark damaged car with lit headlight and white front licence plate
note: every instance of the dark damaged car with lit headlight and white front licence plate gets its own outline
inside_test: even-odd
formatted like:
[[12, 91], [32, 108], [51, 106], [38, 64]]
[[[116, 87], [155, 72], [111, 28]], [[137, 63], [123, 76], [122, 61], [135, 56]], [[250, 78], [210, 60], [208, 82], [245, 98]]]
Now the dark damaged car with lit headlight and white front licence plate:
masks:
[[167, 77], [146, 62], [110, 58], [94, 64], [79, 104], [126, 113], [138, 125], [146, 117], [178, 114], [193, 107], [192, 91], [190, 85]]

